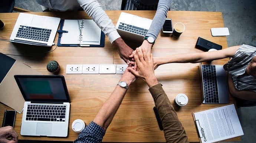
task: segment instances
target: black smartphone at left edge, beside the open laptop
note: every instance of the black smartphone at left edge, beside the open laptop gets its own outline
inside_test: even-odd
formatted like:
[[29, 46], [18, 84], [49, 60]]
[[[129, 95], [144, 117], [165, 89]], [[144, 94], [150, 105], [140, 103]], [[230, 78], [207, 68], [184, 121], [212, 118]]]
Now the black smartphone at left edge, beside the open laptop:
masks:
[[16, 115], [16, 111], [5, 110], [2, 127], [12, 126], [14, 128], [15, 115]]

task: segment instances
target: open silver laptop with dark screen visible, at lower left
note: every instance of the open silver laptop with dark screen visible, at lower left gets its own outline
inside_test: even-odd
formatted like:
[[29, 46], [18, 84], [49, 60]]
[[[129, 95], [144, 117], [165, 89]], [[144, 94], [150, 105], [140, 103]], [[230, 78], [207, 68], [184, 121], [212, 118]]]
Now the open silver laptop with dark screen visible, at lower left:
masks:
[[67, 137], [70, 98], [64, 76], [14, 75], [24, 97], [20, 135]]

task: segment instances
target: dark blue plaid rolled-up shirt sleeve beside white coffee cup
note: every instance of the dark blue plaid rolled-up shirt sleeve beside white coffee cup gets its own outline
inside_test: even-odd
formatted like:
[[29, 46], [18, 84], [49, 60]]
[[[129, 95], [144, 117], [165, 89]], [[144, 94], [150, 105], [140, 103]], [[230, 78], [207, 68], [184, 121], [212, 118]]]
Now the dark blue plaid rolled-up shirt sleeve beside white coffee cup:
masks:
[[74, 143], [100, 143], [105, 132], [101, 126], [92, 121], [83, 129]]

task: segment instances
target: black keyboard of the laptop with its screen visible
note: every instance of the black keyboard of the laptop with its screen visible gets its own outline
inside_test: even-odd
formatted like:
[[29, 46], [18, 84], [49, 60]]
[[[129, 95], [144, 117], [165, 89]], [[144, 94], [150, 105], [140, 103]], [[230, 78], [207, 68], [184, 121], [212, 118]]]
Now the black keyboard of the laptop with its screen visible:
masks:
[[26, 121], [65, 122], [66, 105], [27, 105]]

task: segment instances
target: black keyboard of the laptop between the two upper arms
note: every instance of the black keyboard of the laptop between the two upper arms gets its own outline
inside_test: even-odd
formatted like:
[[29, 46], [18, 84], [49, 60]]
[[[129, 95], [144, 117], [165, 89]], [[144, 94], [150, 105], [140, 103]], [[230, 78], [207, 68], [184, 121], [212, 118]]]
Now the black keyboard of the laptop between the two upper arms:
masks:
[[125, 23], [122, 23], [122, 22], [120, 22], [120, 24], [118, 25], [118, 29], [129, 31], [129, 32], [132, 32], [134, 34], [138, 34], [138, 35], [142, 35], [142, 36], [146, 36], [146, 34], [148, 32], [148, 29], [143, 29], [143, 28], [136, 27], [136, 26], [129, 25], [129, 24], [125, 24]]

